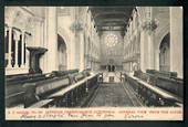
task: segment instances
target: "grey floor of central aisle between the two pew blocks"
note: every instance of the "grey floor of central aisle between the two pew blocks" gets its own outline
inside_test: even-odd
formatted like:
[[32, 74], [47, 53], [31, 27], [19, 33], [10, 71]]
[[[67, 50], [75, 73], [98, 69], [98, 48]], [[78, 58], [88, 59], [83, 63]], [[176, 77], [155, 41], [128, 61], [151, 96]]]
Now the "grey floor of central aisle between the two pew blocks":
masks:
[[104, 83], [100, 84], [88, 103], [88, 107], [134, 107], [142, 106], [127, 84]]

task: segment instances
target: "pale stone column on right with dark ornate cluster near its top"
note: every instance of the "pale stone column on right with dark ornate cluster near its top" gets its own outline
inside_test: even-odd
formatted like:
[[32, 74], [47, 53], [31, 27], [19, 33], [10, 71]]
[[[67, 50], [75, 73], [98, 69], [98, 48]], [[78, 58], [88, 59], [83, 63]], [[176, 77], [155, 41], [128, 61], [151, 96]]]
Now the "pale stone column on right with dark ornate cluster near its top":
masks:
[[152, 17], [152, 8], [146, 8], [146, 19], [142, 22], [140, 32], [140, 68], [155, 68], [154, 35], [157, 22]]

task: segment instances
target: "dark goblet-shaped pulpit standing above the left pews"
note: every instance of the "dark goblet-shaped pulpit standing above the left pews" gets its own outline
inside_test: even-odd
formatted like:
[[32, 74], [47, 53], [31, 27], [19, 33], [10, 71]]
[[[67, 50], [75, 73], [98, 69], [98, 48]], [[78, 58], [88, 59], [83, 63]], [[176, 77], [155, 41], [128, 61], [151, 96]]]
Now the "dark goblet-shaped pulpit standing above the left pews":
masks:
[[30, 68], [29, 73], [42, 73], [42, 70], [40, 68], [40, 57], [48, 51], [44, 47], [27, 47], [30, 51]]

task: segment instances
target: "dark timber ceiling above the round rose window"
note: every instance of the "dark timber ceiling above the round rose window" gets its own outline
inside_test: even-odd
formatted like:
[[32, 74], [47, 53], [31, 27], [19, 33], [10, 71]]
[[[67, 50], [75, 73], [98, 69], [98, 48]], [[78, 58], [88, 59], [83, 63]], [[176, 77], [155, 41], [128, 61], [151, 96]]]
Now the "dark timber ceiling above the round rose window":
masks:
[[98, 32], [124, 31], [134, 7], [90, 7]]

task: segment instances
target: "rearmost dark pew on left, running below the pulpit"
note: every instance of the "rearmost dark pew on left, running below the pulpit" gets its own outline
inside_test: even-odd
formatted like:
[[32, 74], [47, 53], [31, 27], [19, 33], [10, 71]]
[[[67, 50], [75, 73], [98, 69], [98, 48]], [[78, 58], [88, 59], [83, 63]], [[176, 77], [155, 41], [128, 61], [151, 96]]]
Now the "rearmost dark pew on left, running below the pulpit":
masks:
[[69, 74], [76, 74], [79, 70], [55, 71], [48, 74], [18, 74], [6, 76], [6, 107], [14, 107], [23, 104], [24, 83], [35, 83], [54, 77], [62, 77]]

